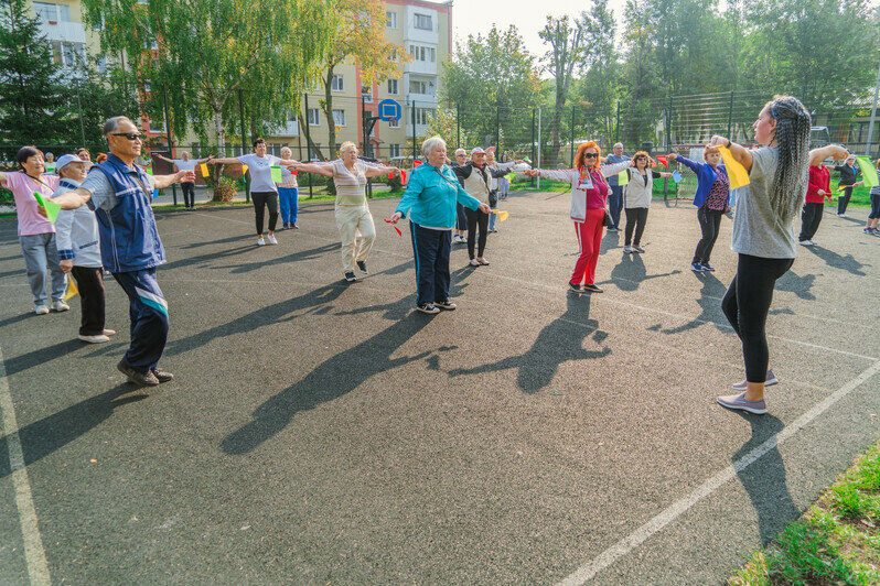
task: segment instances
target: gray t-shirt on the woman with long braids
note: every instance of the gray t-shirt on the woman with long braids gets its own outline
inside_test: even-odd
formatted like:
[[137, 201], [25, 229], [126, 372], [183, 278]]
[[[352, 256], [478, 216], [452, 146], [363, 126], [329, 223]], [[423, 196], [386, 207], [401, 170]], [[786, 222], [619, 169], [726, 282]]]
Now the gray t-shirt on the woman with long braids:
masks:
[[[740, 254], [765, 259], [793, 259], [797, 257], [794, 218], [783, 226], [770, 205], [773, 177], [780, 160], [780, 150], [762, 146], [752, 151], [750, 184], [737, 193], [737, 213], [733, 216], [733, 243]], [[807, 173], [798, 191], [806, 195]]]

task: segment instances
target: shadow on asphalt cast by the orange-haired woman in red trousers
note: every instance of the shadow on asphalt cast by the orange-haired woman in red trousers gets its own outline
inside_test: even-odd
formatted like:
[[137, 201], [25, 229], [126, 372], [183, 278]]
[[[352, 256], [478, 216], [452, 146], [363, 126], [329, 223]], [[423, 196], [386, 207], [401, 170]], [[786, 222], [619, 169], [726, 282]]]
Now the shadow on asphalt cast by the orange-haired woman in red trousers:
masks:
[[[590, 319], [590, 296], [569, 292], [566, 312], [538, 333], [532, 347], [517, 356], [474, 368], [455, 368], [450, 377], [481, 375], [515, 368], [516, 383], [528, 394], [534, 394], [552, 382], [559, 366], [569, 360], [592, 360], [611, 354], [602, 346], [608, 334], [599, 329], [599, 322]], [[583, 349], [583, 340], [592, 337], [600, 350]]]

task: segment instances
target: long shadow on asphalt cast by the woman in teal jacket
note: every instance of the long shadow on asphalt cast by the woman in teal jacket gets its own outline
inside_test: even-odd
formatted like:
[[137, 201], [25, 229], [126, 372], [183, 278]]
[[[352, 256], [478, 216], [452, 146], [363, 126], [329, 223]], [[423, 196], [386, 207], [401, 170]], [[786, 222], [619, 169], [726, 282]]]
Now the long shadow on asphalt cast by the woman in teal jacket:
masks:
[[[410, 297], [396, 303], [363, 307], [350, 313], [384, 311], [395, 323], [375, 336], [324, 360], [299, 382], [269, 398], [254, 411], [254, 419], [235, 430], [221, 442], [226, 454], [247, 454], [287, 427], [297, 413], [339, 399], [369, 378], [387, 373], [397, 367], [429, 358], [436, 351], [427, 349], [412, 356], [391, 356], [427, 326], [431, 317], [411, 312]], [[403, 383], [401, 383], [403, 384]]]

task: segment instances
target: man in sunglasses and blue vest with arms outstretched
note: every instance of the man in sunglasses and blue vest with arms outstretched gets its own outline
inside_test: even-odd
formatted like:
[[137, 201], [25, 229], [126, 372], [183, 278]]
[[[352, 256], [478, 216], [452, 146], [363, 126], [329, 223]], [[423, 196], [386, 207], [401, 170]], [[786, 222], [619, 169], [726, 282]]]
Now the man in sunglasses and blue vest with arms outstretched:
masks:
[[192, 171], [152, 176], [135, 164], [140, 155], [141, 133], [125, 116], [104, 123], [109, 144], [107, 161], [95, 165], [78, 189], [53, 198], [62, 209], [85, 204], [95, 210], [100, 232], [104, 267], [131, 302], [131, 345], [117, 365], [131, 382], [154, 387], [174, 376], [159, 369], [168, 339], [168, 303], [155, 279], [155, 268], [165, 262], [150, 207], [153, 189], [195, 181]]

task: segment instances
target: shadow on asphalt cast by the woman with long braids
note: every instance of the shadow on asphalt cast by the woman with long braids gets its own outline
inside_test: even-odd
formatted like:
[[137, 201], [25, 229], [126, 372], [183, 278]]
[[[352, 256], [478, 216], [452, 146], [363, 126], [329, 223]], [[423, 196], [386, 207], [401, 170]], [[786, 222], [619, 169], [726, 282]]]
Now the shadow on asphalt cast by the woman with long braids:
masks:
[[[802, 513], [788, 492], [785, 463], [775, 444], [776, 435], [785, 427], [785, 424], [773, 415], [752, 415], [739, 411], [737, 414], [752, 426], [752, 437], [733, 454], [731, 463], [758, 513], [761, 545], [766, 545]], [[764, 446], [763, 449], [766, 451], [763, 455], [743, 468], [743, 464], [751, 462], [749, 454], [768, 441], [772, 443]], [[741, 462], [745, 457], [749, 459]]]

